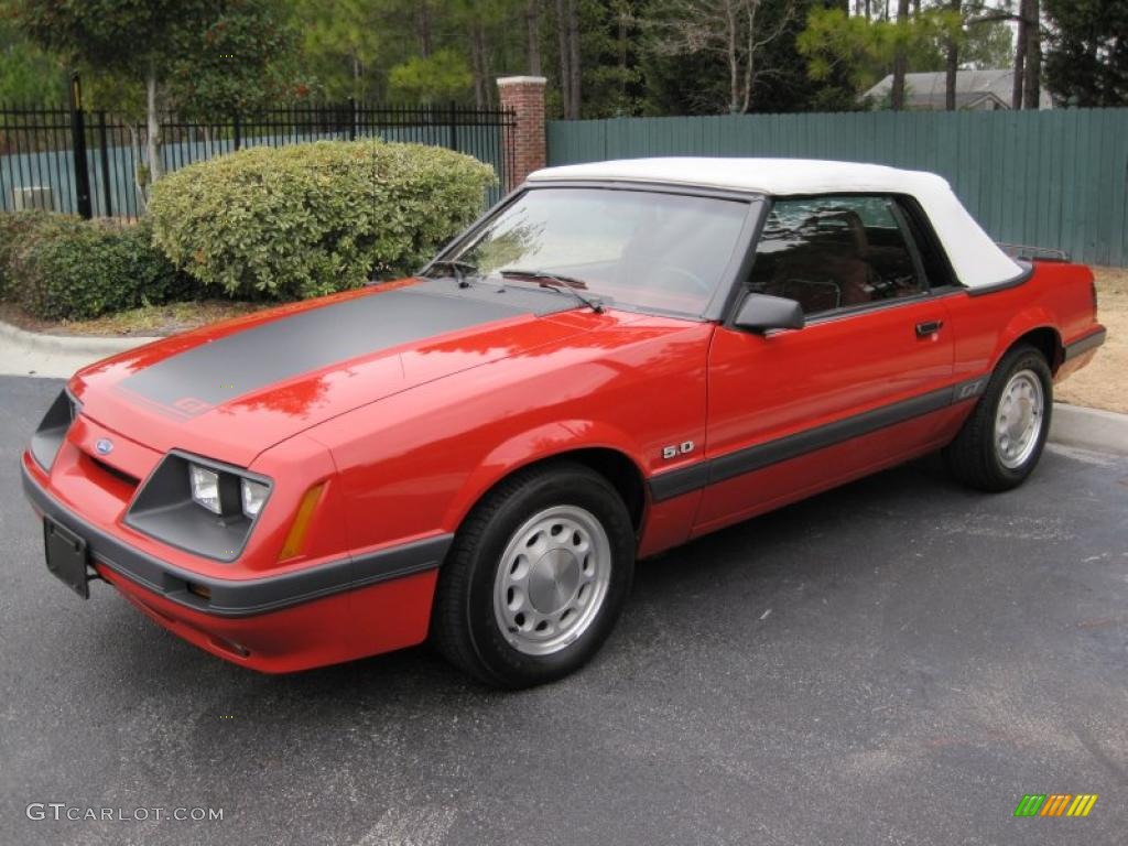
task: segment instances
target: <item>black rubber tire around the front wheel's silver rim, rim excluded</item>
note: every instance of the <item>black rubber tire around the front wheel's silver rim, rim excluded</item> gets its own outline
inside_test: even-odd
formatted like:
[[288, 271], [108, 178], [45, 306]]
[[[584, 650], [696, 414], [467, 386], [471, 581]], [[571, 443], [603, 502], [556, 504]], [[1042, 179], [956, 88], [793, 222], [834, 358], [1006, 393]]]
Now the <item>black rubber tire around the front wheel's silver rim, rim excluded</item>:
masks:
[[[609, 557], [610, 574], [601, 602], [574, 641], [550, 654], [526, 654], [502, 631], [495, 580], [515, 534], [535, 515], [561, 506], [582, 509], [598, 520], [608, 541], [603, 558]], [[634, 554], [631, 515], [603, 476], [564, 461], [520, 472], [491, 491], [459, 528], [439, 573], [432, 641], [456, 667], [494, 687], [515, 689], [562, 678], [587, 663], [614, 628], [631, 590]]]

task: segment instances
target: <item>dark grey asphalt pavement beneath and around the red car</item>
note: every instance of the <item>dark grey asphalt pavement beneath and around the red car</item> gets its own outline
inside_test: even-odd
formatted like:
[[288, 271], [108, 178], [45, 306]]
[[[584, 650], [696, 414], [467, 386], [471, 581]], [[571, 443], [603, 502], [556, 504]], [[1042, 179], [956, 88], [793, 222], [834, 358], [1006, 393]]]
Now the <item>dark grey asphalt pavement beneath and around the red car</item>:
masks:
[[640, 565], [585, 670], [499, 694], [426, 647], [259, 676], [78, 599], [19, 488], [60, 384], [0, 378], [0, 844], [1126, 841], [1123, 457], [994, 496], [918, 462], [716, 534]]

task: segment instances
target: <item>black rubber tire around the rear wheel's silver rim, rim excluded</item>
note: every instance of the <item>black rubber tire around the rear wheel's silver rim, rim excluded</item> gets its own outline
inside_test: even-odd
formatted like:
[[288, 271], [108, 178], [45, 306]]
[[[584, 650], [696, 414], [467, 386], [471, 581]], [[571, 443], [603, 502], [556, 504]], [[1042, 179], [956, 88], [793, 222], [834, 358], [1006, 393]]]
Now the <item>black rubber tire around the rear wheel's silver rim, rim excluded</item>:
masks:
[[[995, 443], [995, 417], [1003, 391], [1012, 377], [1021, 371], [1032, 372], [1042, 387], [1042, 414], [1033, 449], [1015, 467], [1007, 467]], [[1007, 351], [987, 381], [987, 388], [976, 404], [971, 416], [948, 447], [944, 460], [949, 472], [960, 482], [979, 491], [999, 492], [1017, 487], [1033, 472], [1046, 446], [1054, 409], [1054, 378], [1046, 356], [1026, 344]]]

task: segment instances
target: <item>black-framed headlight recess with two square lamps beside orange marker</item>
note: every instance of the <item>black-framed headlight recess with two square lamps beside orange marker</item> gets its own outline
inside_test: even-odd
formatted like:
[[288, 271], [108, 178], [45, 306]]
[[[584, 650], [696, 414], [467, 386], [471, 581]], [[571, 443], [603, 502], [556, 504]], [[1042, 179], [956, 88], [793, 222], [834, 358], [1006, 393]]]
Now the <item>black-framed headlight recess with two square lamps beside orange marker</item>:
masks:
[[144, 481], [125, 523], [166, 544], [235, 561], [271, 494], [271, 481], [173, 450]]

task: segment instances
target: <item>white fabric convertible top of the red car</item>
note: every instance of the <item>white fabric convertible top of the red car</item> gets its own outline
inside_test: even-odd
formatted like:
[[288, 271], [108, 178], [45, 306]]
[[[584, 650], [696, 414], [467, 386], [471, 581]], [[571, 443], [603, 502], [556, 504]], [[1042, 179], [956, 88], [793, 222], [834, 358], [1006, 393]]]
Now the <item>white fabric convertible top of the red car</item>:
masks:
[[1020, 276], [1022, 265], [1003, 253], [942, 177], [924, 170], [819, 159], [661, 158], [549, 167], [528, 182], [615, 180], [735, 188], [774, 196], [880, 192], [908, 194], [924, 209], [957, 277], [988, 288]]

